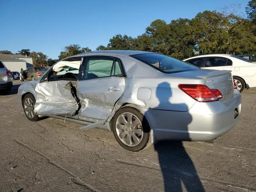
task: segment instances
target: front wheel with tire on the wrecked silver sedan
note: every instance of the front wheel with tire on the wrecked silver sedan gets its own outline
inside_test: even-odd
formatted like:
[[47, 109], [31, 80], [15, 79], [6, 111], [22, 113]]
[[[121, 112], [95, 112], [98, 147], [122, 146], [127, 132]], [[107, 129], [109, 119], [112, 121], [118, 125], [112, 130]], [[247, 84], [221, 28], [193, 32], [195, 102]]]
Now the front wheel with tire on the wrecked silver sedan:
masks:
[[39, 117], [34, 112], [34, 104], [36, 103], [36, 99], [34, 98], [34, 95], [31, 93], [28, 93], [24, 96], [22, 100], [22, 107], [24, 109], [24, 113], [28, 120], [30, 121], [38, 121]]

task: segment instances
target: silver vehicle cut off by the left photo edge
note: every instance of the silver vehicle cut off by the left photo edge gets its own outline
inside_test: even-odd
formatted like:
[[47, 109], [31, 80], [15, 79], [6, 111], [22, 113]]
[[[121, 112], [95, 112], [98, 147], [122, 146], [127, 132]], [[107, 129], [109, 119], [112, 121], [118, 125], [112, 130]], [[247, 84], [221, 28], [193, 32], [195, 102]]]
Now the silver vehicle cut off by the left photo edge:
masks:
[[12, 88], [12, 74], [0, 61], [0, 92], [8, 93]]

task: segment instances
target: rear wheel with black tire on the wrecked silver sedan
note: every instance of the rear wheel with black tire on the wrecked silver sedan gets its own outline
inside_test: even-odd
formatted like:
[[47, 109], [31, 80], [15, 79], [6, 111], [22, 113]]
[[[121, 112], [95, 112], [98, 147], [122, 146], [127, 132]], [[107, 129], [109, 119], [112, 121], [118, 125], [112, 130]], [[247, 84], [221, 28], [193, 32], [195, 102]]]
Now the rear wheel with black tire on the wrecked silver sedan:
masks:
[[150, 127], [146, 118], [132, 107], [118, 110], [112, 120], [117, 142], [129, 151], [140, 151], [150, 143]]

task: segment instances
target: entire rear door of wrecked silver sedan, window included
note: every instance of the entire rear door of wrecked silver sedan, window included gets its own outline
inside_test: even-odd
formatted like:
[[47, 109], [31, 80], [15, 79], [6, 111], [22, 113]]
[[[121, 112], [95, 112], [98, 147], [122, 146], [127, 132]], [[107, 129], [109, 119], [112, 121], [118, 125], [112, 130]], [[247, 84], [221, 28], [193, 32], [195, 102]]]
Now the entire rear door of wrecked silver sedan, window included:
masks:
[[86, 57], [79, 74], [79, 116], [106, 120], [125, 88], [125, 71], [119, 58]]

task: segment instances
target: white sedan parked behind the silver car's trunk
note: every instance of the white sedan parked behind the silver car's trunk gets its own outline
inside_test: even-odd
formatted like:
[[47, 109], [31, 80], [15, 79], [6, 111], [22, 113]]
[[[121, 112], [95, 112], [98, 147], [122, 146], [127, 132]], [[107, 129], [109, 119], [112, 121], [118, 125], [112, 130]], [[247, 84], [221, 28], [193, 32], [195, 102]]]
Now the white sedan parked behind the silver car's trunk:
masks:
[[240, 92], [256, 87], [256, 62], [229, 54], [200, 55], [184, 61], [204, 69], [231, 70]]

